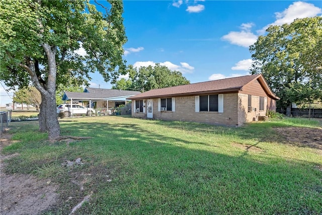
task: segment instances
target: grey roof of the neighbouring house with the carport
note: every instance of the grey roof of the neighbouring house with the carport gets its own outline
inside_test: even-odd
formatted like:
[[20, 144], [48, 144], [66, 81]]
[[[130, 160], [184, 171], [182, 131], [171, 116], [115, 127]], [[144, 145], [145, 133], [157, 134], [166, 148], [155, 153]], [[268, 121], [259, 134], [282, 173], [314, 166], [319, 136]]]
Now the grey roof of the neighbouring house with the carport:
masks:
[[107, 98], [127, 97], [140, 94], [139, 91], [85, 88], [84, 93], [65, 92], [62, 100], [106, 100]]

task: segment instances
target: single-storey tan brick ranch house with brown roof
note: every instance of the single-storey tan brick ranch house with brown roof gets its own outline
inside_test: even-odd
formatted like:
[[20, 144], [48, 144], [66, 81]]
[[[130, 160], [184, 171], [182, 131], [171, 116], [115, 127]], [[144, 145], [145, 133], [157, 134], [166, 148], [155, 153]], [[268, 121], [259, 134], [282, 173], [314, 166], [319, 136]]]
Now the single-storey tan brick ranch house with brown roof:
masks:
[[264, 77], [250, 75], [150, 90], [128, 98], [132, 117], [239, 126], [276, 110]]

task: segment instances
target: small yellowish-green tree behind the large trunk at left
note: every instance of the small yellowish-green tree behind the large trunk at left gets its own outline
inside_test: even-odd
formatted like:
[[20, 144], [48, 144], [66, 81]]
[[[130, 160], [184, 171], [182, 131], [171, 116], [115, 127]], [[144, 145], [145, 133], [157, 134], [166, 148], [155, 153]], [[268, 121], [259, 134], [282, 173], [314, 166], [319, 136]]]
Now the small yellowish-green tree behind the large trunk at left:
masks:
[[14, 102], [18, 104], [32, 105], [39, 112], [41, 95], [35, 87], [27, 87], [15, 93]]

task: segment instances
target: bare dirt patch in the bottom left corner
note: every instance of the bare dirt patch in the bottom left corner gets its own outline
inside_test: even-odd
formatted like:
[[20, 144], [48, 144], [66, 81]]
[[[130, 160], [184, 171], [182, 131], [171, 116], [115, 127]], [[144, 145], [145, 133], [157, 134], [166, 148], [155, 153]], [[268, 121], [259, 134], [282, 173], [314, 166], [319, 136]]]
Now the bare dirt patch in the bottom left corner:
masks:
[[[13, 144], [11, 134], [1, 134], [0, 151]], [[0, 157], [0, 214], [37, 214], [49, 209], [58, 200], [57, 185], [47, 180], [39, 180], [31, 175], [4, 173], [4, 160], [18, 156], [18, 153]]]

